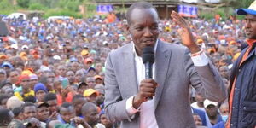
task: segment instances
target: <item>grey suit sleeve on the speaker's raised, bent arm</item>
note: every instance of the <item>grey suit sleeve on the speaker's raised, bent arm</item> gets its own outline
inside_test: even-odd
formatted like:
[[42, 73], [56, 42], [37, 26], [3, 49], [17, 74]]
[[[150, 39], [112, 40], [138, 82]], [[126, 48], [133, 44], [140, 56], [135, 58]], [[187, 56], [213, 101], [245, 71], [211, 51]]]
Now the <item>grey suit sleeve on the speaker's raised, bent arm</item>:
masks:
[[206, 66], [194, 66], [187, 50], [185, 52], [184, 64], [190, 84], [192, 84], [197, 92], [201, 92], [203, 96], [213, 102], [223, 102], [226, 99], [227, 90], [224, 82], [211, 61]]

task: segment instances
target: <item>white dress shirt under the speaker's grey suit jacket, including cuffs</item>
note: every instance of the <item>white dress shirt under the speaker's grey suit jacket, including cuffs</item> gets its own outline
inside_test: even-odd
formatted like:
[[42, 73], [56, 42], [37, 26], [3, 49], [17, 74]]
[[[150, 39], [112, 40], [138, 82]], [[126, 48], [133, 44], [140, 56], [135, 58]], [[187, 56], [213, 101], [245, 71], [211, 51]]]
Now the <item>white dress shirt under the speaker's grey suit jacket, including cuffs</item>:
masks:
[[[158, 41], [154, 45], [154, 53], [156, 51], [156, 46]], [[143, 64], [142, 57], [138, 56], [135, 50], [135, 46], [133, 46], [133, 53], [135, 58], [135, 65], [137, 71], [137, 84], [139, 85], [140, 82], [145, 79], [145, 67]], [[195, 66], [206, 66], [208, 64], [207, 56], [202, 53], [200, 55], [195, 55], [192, 58]], [[155, 79], [155, 65], [153, 64], [153, 79]], [[158, 128], [155, 115], [154, 115], [154, 97], [152, 100], [148, 100], [147, 102], [143, 102], [140, 108], [135, 109], [132, 107], [132, 101], [134, 96], [131, 96], [126, 101], [126, 111], [127, 113], [132, 116], [137, 112], [140, 112], [140, 128]]]

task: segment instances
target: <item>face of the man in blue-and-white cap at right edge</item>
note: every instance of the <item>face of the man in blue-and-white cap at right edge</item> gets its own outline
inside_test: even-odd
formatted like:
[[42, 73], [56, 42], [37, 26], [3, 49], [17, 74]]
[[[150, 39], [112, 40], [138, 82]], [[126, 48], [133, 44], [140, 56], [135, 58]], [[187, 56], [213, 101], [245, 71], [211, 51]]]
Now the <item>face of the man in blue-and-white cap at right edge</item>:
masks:
[[248, 39], [256, 39], [256, 15], [245, 16], [245, 31]]

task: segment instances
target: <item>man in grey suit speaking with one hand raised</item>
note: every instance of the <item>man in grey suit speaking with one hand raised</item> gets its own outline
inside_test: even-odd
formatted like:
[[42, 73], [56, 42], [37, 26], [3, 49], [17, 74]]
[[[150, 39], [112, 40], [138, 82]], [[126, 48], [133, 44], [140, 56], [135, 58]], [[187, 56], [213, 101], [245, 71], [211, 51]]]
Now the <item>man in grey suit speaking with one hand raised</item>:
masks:
[[[172, 12], [181, 26], [184, 46], [158, 39], [156, 9], [145, 2], [127, 10], [132, 43], [112, 51], [106, 63], [105, 110], [110, 121], [121, 121], [122, 128], [195, 127], [189, 102], [189, 85], [207, 99], [223, 102], [224, 83], [218, 70], [195, 44], [188, 24]], [[145, 79], [143, 48], [154, 47], [153, 79]], [[153, 96], [152, 100], [147, 97]]]

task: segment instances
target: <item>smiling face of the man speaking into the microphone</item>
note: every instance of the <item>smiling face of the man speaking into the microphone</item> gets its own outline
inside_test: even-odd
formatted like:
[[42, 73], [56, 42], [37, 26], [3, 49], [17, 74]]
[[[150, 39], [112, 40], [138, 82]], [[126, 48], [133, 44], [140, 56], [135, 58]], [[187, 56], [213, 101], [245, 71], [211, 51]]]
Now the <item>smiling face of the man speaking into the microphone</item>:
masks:
[[154, 9], [133, 9], [129, 31], [138, 53], [146, 46], [154, 47], [159, 35], [158, 15]]

